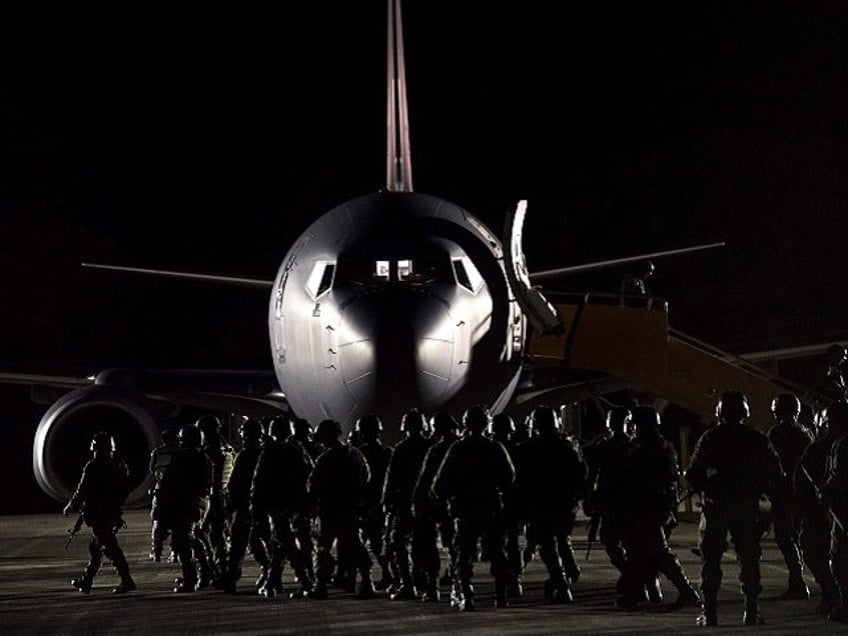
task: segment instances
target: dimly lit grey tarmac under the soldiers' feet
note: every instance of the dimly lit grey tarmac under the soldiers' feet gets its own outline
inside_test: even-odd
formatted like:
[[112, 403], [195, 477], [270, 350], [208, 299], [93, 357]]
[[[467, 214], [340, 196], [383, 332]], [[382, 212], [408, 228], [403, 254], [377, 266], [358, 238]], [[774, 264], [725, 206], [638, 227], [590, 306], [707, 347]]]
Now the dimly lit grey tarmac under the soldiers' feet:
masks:
[[[325, 601], [287, 596], [263, 599], [253, 586], [258, 567], [249, 554], [236, 594], [212, 588], [175, 594], [171, 590], [178, 566], [149, 559], [147, 511], [128, 511], [125, 519], [127, 527], [119, 538], [138, 589], [126, 595], [112, 594], [118, 577], [106, 562], [86, 595], [69, 584], [88, 559], [85, 528], [65, 549], [72, 517], [0, 516], [0, 634], [731, 634], [750, 633], [751, 629], [768, 634], [848, 633], [848, 625], [828, 622], [816, 613], [819, 589], [809, 575], [810, 600], [780, 599], [787, 570], [771, 536], [763, 543], [761, 563], [764, 589], [760, 611], [765, 625], [745, 628], [741, 624], [743, 602], [730, 551], [724, 562], [719, 626], [706, 628], [695, 624], [699, 608], [671, 609], [676, 592], [665, 580], [666, 604], [646, 605], [637, 611], [617, 608], [617, 573], [600, 545], [593, 547], [587, 559], [585, 519], [574, 532], [582, 567], [574, 585], [574, 603], [551, 605], [544, 601], [546, 573], [537, 557], [524, 575], [523, 596], [512, 599], [506, 609], [494, 608], [494, 585], [487, 564], [476, 564], [477, 609], [466, 613], [451, 608], [447, 588], [442, 589], [438, 603], [391, 601], [384, 596], [359, 601], [342, 590], [332, 590]], [[697, 585], [700, 560], [692, 551], [697, 545], [697, 524], [681, 523], [670, 543]], [[284, 583], [289, 590], [295, 588], [288, 570]]]

